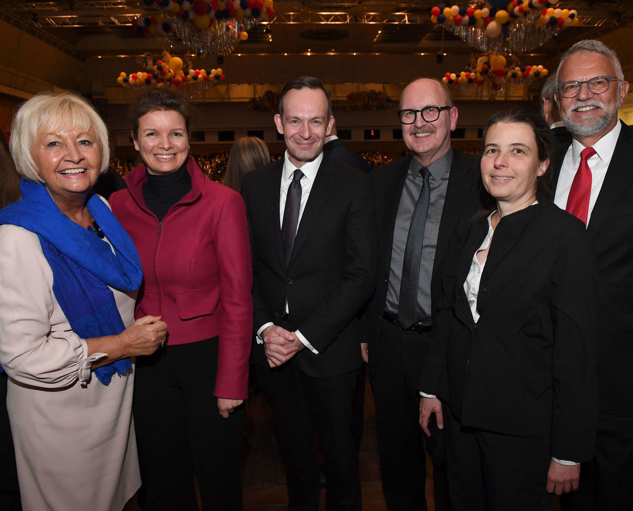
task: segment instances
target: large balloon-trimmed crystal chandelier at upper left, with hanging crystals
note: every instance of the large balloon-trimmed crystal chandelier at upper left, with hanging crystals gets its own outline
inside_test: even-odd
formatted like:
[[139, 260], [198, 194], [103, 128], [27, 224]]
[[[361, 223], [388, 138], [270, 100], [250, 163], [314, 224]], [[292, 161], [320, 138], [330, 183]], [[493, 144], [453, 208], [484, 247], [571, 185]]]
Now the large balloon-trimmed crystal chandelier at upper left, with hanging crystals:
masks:
[[228, 55], [247, 30], [275, 14], [273, 0], [144, 0], [160, 10], [140, 16], [132, 25], [137, 34], [165, 36], [189, 53]]

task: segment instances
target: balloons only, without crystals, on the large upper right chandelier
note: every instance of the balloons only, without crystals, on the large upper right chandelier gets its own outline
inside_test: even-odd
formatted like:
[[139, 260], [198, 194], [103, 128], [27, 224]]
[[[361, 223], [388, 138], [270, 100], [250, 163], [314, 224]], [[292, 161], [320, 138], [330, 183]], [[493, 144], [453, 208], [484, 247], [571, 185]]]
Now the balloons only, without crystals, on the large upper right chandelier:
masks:
[[[439, 25], [465, 25], [486, 30], [491, 38], [499, 37], [513, 20], [532, 15], [535, 27], [579, 25], [577, 11], [555, 9], [559, 0], [487, 0], [477, 7], [442, 5], [431, 9], [431, 21]], [[542, 11], [541, 11], [542, 10]], [[539, 14], [540, 13], [540, 14]]]

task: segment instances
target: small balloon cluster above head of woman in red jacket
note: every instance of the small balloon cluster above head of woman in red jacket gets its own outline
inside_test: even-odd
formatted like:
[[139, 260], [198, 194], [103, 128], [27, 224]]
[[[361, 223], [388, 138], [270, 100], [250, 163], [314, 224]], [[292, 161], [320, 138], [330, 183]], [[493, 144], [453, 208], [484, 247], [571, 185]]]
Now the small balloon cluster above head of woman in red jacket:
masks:
[[147, 61], [146, 71], [130, 73], [121, 72], [116, 82], [123, 87], [149, 85], [154, 87], [165, 87], [172, 85], [185, 87], [189, 84], [216, 84], [223, 81], [225, 76], [221, 68], [217, 69], [194, 69], [186, 65], [182, 58], [171, 56], [166, 51], [163, 52], [163, 60], [157, 60], [156, 64]]

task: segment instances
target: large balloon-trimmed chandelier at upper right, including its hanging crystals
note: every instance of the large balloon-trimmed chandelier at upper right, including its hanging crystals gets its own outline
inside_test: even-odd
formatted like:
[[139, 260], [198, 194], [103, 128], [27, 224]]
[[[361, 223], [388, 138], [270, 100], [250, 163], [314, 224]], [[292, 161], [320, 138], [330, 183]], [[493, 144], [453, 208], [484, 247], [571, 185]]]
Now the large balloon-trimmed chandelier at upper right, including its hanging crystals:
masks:
[[[576, 10], [555, 8], [559, 0], [487, 0], [475, 7], [440, 4], [431, 21], [481, 51], [528, 51], [557, 32], [579, 25]], [[500, 37], [501, 36], [501, 37]]]

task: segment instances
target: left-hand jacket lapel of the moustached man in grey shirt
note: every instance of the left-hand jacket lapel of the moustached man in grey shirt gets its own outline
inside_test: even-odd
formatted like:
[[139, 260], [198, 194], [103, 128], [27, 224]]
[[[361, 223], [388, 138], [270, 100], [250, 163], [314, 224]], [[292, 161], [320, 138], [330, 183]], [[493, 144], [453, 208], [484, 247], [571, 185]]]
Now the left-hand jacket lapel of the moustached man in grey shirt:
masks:
[[398, 216], [398, 206], [406, 181], [406, 175], [411, 165], [411, 158], [403, 158], [401, 167], [393, 173], [385, 174], [382, 183], [378, 183], [384, 190], [376, 190], [377, 198], [384, 198], [384, 201], [378, 203], [377, 216], [382, 218], [382, 224], [379, 224], [379, 239], [384, 243], [382, 261], [384, 262], [384, 271], [389, 275], [391, 265], [391, 250], [394, 239], [394, 227], [396, 226], [396, 216]]

